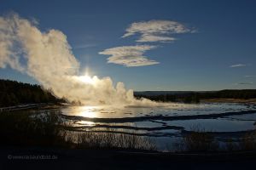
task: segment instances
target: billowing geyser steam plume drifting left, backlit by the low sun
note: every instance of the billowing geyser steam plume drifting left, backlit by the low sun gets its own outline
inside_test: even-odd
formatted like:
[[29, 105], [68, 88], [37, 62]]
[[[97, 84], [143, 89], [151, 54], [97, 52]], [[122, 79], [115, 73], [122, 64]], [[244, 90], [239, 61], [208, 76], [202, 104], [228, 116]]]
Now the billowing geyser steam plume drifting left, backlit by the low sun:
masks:
[[34, 77], [56, 96], [84, 105], [156, 105], [134, 99], [123, 82], [114, 88], [110, 77], [87, 77], [93, 83], [84, 82], [66, 35], [54, 29], [40, 31], [37, 23], [18, 14], [0, 17], [0, 67], [7, 65]]

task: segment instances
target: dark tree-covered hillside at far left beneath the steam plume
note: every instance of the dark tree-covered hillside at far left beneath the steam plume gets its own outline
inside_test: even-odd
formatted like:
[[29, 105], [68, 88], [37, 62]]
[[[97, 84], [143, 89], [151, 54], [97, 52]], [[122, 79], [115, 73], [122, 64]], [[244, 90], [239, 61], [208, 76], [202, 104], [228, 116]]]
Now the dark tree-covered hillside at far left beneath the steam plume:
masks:
[[38, 85], [0, 79], [0, 107], [60, 101], [49, 90]]

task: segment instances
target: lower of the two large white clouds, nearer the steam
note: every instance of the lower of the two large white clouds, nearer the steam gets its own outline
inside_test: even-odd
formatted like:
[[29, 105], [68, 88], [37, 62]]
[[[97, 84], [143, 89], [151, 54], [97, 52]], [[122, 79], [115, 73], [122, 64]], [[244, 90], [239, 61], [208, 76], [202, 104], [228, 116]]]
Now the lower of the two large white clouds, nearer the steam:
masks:
[[99, 52], [99, 54], [111, 55], [108, 57], [108, 63], [125, 65], [127, 67], [159, 64], [159, 62], [143, 56], [143, 53], [152, 48], [156, 48], [156, 46], [122, 46], [105, 49], [102, 52]]

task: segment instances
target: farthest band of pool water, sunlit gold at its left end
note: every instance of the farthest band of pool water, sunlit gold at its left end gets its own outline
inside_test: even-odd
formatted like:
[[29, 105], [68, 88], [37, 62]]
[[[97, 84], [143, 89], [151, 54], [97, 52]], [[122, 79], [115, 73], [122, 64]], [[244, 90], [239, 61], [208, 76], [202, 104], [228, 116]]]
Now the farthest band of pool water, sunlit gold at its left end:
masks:
[[84, 116], [90, 118], [122, 118], [138, 116], [185, 116], [207, 115], [230, 111], [252, 110], [252, 105], [239, 104], [177, 104], [172, 103], [165, 107], [113, 107], [113, 106], [69, 106], [61, 110], [62, 114], [69, 116]]

